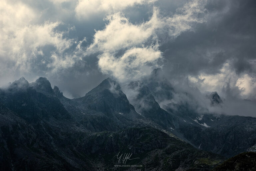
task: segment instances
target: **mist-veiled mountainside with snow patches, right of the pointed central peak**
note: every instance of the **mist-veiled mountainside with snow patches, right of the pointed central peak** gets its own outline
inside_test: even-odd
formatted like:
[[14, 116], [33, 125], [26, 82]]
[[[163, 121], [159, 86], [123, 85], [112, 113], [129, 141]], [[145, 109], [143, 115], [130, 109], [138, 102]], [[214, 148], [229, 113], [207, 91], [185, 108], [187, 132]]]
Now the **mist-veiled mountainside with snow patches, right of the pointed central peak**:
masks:
[[[226, 157], [245, 152], [247, 148], [256, 144], [256, 118], [211, 113], [207, 109], [207, 105], [200, 106], [197, 103], [196, 98], [198, 96], [196, 93], [199, 92], [176, 92], [161, 72], [160, 69], [155, 69], [151, 75], [131, 84], [148, 87], [153, 97], [145, 96], [146, 100], [142, 101], [144, 106], [153, 106], [150, 99], [155, 98], [155, 101], [161, 104], [161, 108], [177, 118], [174, 121], [175, 128], [172, 127], [174, 129], [171, 130], [172, 133], [199, 149]], [[130, 92], [128, 91], [128, 93]], [[135, 93], [135, 97], [137, 98], [137, 95], [141, 96], [141, 94]], [[174, 94], [182, 100], [175, 102], [172, 99]], [[134, 96], [134, 94], [132, 95]], [[209, 102], [208, 107], [217, 107], [218, 110], [221, 110], [222, 106], [225, 105], [217, 92], [212, 92], [204, 100]], [[138, 104], [140, 104], [139, 102], [141, 101], [132, 102], [136, 110]], [[153, 114], [153, 112], [150, 112], [150, 114]], [[166, 120], [161, 118], [160, 122], [167, 125]]]

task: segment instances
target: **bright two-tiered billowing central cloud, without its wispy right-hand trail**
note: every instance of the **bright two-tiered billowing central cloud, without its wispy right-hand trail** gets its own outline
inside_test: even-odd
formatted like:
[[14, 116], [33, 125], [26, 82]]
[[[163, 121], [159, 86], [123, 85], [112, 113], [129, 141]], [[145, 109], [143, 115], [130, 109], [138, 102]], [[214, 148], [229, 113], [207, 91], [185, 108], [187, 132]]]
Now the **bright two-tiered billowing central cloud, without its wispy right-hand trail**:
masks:
[[154, 33], [162, 22], [157, 15], [155, 10], [149, 21], [137, 25], [121, 13], [107, 17], [109, 23], [96, 31], [93, 43], [87, 48], [88, 53], [101, 53], [98, 65], [103, 73], [125, 81], [140, 78], [157, 66], [162, 57]]

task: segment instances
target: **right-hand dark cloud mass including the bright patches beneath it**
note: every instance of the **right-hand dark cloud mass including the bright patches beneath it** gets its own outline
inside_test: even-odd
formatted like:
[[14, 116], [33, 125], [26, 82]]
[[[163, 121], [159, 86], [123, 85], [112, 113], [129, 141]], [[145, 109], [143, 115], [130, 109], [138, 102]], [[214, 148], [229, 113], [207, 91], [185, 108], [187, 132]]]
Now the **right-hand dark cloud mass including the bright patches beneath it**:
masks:
[[208, 0], [206, 23], [160, 47], [166, 50], [166, 75], [176, 82], [188, 76], [190, 85], [202, 92], [255, 99], [256, 32], [249, 24], [256, 21], [255, 5], [252, 0]]

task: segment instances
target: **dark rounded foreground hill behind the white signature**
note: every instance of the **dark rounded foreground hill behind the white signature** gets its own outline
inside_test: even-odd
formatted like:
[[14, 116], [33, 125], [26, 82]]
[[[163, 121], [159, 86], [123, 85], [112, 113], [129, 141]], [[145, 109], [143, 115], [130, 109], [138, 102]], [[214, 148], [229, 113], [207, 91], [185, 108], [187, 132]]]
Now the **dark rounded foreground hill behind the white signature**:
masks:
[[[124, 153], [132, 153], [134, 160], [126, 164], [143, 165], [139, 170], [210, 170], [220, 163], [223, 158], [215, 154], [195, 149], [193, 146], [170, 137], [169, 135], [152, 127], [130, 128], [118, 132], [97, 133], [87, 138], [82, 146], [90, 157], [99, 157], [98, 169], [120, 170], [113, 167], [122, 165], [118, 161]], [[111, 158], [110, 158], [111, 156]], [[112, 156], [114, 156], [112, 158]], [[204, 158], [207, 156], [207, 162]], [[105, 161], [105, 162], [104, 162]], [[99, 165], [99, 163], [97, 163]], [[131, 168], [127, 168], [131, 170]], [[125, 169], [126, 170], [126, 169]]]

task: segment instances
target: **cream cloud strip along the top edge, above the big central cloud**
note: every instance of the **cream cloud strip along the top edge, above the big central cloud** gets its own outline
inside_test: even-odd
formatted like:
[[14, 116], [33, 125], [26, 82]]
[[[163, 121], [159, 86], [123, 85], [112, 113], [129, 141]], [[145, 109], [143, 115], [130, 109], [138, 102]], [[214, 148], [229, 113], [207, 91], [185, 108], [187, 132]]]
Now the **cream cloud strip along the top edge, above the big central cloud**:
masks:
[[99, 13], [115, 13], [136, 4], [149, 4], [154, 1], [155, 0], [79, 0], [75, 12], [79, 19], [89, 19], [92, 15]]

